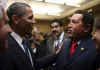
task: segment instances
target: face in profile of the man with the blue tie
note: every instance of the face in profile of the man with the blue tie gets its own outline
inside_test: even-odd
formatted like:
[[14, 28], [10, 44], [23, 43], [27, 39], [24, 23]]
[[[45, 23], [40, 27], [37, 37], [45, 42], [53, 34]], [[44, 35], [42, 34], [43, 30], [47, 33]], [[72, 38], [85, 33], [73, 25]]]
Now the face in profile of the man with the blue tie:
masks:
[[32, 32], [33, 24], [35, 23], [35, 19], [33, 16], [32, 9], [30, 7], [26, 7], [25, 15], [18, 19], [17, 28], [25, 35], [30, 34]]

